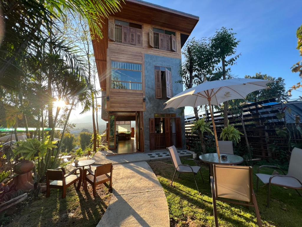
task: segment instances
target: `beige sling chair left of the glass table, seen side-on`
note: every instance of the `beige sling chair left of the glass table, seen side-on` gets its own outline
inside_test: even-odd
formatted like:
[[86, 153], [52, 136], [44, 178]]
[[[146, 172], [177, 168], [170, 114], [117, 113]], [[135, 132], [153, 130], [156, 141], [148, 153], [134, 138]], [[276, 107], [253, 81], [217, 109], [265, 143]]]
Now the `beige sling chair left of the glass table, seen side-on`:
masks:
[[[170, 153], [172, 163], [173, 163], [173, 166], [175, 168], [175, 172], [174, 172], [174, 175], [173, 175], [171, 186], [172, 186], [172, 183], [173, 183], [176, 172], [179, 172], [178, 178], [179, 178], [181, 173], [193, 173], [194, 181], [195, 181], [195, 184], [196, 184], [196, 187], [197, 187], [197, 191], [199, 192], [199, 189], [198, 189], [198, 186], [197, 186], [197, 183], [196, 183], [196, 179], [195, 179], [195, 175], [198, 173], [198, 171], [200, 172], [202, 182], [204, 182], [204, 179], [202, 177], [200, 166], [198, 166], [197, 161], [195, 159], [185, 159], [182, 163], [180, 158], [179, 158], [179, 155], [177, 153], [176, 147], [174, 145], [167, 147], [167, 150]], [[194, 160], [196, 162], [197, 166], [185, 165], [184, 163], [185, 163], [186, 160]]]

